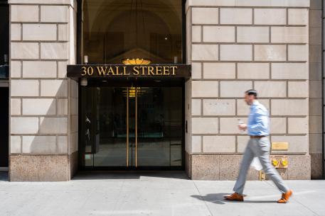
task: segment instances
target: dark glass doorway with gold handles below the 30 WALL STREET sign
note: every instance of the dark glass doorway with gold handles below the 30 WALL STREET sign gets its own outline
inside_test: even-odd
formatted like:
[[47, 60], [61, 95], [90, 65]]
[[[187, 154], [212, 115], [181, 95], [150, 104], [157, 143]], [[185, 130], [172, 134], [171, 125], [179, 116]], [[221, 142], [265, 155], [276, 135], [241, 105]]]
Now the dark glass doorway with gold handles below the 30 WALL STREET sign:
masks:
[[83, 169], [183, 169], [183, 86], [91, 83], [81, 87]]

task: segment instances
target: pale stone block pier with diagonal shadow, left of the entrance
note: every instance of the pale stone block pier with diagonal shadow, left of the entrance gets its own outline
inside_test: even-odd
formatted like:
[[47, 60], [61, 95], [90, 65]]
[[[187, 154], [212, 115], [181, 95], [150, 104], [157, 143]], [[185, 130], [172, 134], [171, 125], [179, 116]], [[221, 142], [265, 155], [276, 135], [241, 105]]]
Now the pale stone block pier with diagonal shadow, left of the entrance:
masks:
[[10, 181], [68, 181], [78, 163], [73, 0], [9, 0]]

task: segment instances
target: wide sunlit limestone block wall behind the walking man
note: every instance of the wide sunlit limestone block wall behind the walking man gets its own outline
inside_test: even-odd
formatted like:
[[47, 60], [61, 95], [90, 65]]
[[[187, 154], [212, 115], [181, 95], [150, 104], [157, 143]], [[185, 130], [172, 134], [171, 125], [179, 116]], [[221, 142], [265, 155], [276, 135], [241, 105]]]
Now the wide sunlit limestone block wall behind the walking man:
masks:
[[[186, 84], [191, 133], [186, 166], [193, 179], [235, 179], [248, 137], [244, 91], [270, 111], [272, 142], [289, 142], [287, 179], [310, 178], [309, 1], [188, 0]], [[249, 178], [257, 179], [250, 171]]]

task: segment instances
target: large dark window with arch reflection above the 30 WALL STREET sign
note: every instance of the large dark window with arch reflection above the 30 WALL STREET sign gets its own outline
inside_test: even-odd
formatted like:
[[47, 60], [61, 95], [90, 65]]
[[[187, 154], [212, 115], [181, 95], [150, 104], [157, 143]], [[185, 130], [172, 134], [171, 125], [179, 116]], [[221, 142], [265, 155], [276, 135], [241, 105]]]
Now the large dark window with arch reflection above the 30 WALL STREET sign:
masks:
[[85, 0], [82, 56], [89, 63], [121, 64], [124, 58], [181, 63], [181, 0]]

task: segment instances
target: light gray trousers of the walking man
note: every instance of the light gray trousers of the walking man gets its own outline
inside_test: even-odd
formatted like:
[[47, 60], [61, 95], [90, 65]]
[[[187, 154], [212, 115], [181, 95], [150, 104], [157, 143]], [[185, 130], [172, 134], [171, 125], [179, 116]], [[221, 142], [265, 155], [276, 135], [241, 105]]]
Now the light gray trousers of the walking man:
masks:
[[289, 191], [289, 188], [286, 186], [281, 176], [270, 162], [270, 141], [267, 137], [253, 138], [248, 141], [233, 191], [243, 194], [247, 171], [250, 168], [250, 163], [254, 157], [258, 157], [258, 159], [260, 159], [260, 163], [262, 164], [265, 174], [267, 174], [267, 176], [275, 183], [277, 188], [279, 188], [279, 191], [282, 193]]

